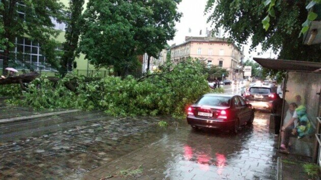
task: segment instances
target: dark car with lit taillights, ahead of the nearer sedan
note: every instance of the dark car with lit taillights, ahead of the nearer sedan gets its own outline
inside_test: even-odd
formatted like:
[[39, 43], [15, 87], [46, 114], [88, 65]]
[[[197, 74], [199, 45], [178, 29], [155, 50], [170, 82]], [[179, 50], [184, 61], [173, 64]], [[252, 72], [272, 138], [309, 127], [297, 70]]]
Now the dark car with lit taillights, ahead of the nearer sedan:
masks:
[[272, 101], [276, 98], [276, 94], [277, 88], [273, 85], [253, 86], [245, 92], [245, 100], [255, 109], [271, 111]]

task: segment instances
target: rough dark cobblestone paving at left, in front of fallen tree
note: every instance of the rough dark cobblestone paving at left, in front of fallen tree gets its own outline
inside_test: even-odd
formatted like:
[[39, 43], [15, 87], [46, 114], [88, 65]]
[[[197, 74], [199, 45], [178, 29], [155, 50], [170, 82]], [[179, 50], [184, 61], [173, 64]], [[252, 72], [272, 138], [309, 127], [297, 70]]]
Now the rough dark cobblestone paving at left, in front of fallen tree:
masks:
[[[11, 128], [2, 124], [0, 179], [81, 179], [86, 172], [159, 140], [164, 133], [157, 125], [159, 118], [117, 119], [93, 114], [21, 121], [9, 125]], [[55, 124], [58, 122], [61, 124]], [[42, 130], [44, 127], [50, 131]], [[20, 134], [10, 132], [12, 128]], [[39, 129], [40, 136], [23, 136]], [[18, 138], [12, 140], [16, 134]]]

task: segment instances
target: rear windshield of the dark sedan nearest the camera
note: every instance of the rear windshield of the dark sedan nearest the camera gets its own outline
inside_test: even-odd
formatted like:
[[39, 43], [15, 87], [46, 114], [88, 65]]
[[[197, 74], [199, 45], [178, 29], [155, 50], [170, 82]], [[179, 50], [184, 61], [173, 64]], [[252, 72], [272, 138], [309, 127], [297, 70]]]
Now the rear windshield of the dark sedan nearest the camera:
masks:
[[222, 106], [229, 107], [230, 106], [230, 97], [220, 97], [220, 96], [203, 96], [199, 99], [196, 104], [197, 105], [206, 105], [206, 106]]

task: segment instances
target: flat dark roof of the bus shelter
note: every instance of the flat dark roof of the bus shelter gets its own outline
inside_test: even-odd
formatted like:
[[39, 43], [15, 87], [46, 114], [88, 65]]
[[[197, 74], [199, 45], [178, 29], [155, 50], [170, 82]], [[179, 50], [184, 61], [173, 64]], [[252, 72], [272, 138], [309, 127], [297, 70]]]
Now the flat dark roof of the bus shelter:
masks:
[[279, 59], [253, 58], [262, 67], [275, 70], [287, 71], [316, 71], [321, 69], [321, 63], [307, 61], [290, 61]]

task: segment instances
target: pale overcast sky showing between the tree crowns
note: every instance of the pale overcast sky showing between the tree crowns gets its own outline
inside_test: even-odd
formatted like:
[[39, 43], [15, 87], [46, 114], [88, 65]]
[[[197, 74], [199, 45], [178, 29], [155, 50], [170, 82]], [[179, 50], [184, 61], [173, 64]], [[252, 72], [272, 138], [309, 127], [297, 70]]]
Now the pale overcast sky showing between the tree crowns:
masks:
[[[172, 41], [168, 44], [172, 45], [174, 43], [180, 44], [184, 42], [185, 36], [199, 36], [200, 30], [202, 30], [202, 35], [204, 36], [204, 31], [206, 28], [211, 29], [210, 24], [206, 23], [208, 15], [204, 15], [204, 9], [207, 0], [182, 0], [178, 5], [178, 11], [183, 13], [180, 22], [176, 22], [176, 35]], [[189, 29], [191, 28], [191, 33]], [[265, 52], [263, 55], [258, 56], [257, 53], [261, 52], [261, 48], [257, 47], [257, 52], [251, 52], [249, 54], [249, 45], [244, 46], [245, 60], [253, 59], [253, 57], [269, 58], [270, 51]], [[272, 58], [277, 56], [272, 53]]]

